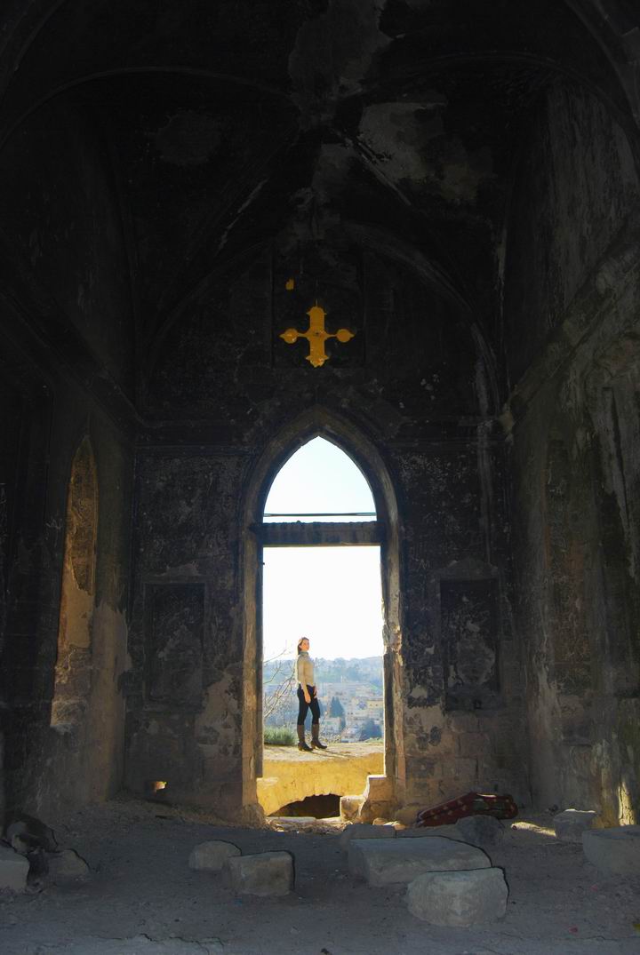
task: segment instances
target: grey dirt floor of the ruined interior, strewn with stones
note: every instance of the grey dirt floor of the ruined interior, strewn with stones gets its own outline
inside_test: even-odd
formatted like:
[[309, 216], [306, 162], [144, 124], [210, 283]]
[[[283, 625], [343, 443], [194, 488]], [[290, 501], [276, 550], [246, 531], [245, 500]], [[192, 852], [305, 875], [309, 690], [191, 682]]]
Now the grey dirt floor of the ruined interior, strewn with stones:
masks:
[[[55, 824], [56, 820], [51, 821]], [[352, 881], [335, 822], [278, 832], [128, 797], [55, 824], [62, 847], [91, 880], [35, 894], [0, 893], [2, 955], [640, 955], [640, 882], [605, 879], [579, 845], [544, 820], [506, 823], [500, 848], [506, 917], [476, 928], [437, 928], [409, 914], [402, 889]], [[288, 849], [296, 890], [236, 898], [219, 875], [192, 872], [205, 839], [245, 853]]]

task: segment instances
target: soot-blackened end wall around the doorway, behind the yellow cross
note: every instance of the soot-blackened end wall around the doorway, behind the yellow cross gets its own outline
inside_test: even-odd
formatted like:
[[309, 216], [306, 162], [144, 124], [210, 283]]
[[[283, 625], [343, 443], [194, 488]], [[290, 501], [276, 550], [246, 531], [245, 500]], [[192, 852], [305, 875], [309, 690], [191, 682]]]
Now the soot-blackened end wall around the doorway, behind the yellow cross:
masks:
[[[165, 780], [167, 794], [224, 812], [241, 805], [243, 706], [258, 663], [243, 661], [245, 494], [269, 447], [281, 453], [283, 429], [319, 408], [373, 444], [398, 500], [396, 795], [427, 804], [506, 788], [523, 798], [492, 369], [459, 303], [414, 269], [355, 244], [294, 248], [267, 248], [221, 279], [166, 331], [149, 370], [127, 782], [143, 791]], [[308, 343], [279, 333], [306, 328], [316, 298], [331, 331], [356, 335], [330, 341], [330, 360], [313, 369]]]

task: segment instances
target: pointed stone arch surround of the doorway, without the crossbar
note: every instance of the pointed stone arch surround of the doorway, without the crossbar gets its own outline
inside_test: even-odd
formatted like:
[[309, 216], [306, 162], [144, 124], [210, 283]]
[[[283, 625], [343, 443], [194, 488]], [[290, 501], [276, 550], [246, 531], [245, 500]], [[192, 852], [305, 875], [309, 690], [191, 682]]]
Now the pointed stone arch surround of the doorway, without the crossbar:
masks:
[[[390, 471], [369, 437], [350, 421], [315, 406], [274, 435], [252, 470], [244, 507], [244, 709], [243, 804], [257, 803], [262, 775], [262, 551], [260, 527], [274, 477], [288, 458], [314, 437], [324, 437], [350, 456], [372, 489], [380, 543], [383, 601], [385, 774], [391, 797], [402, 801], [405, 764], [401, 717], [400, 520]], [[271, 525], [272, 526], [272, 525]], [[335, 526], [335, 525], [333, 525]], [[353, 527], [353, 524], [347, 525]]]

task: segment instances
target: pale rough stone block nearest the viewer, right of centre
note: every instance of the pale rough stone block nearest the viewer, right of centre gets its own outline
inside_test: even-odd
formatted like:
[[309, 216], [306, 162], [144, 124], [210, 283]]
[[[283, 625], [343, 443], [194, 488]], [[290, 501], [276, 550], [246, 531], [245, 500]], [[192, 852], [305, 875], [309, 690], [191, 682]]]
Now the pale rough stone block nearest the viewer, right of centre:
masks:
[[467, 926], [501, 919], [509, 895], [501, 869], [428, 872], [410, 882], [407, 907], [434, 925]]

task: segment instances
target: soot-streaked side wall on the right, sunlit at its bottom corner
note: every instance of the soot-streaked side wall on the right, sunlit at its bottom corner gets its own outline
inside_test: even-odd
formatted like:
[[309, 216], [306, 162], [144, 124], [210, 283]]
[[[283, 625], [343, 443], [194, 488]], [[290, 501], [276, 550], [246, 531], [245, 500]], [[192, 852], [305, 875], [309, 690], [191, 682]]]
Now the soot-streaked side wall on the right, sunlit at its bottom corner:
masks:
[[514, 185], [505, 285], [533, 796], [629, 822], [640, 797], [638, 180], [627, 138], [587, 94], [550, 90], [536, 129]]

